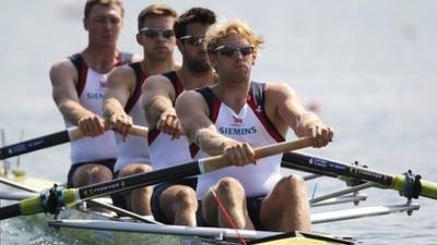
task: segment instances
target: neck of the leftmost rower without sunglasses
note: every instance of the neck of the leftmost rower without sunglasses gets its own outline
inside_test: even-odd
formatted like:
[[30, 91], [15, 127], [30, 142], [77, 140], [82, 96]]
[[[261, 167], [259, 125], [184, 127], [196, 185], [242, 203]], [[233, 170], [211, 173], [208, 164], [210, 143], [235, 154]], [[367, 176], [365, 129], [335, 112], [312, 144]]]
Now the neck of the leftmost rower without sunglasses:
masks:
[[88, 46], [82, 51], [86, 64], [95, 72], [106, 74], [118, 62], [119, 51], [116, 47]]

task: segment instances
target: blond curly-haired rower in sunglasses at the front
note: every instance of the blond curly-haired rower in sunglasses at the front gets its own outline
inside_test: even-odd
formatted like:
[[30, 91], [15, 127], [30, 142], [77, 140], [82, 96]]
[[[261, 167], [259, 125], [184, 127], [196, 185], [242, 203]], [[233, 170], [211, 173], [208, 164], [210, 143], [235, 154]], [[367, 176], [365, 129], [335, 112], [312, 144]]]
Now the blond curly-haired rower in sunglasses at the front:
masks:
[[176, 111], [193, 143], [193, 158], [224, 155], [231, 167], [199, 175], [200, 224], [308, 231], [305, 182], [294, 174], [282, 177], [282, 155], [256, 160], [253, 148], [283, 142], [288, 128], [298, 137], [314, 137], [314, 147], [323, 147], [331, 142], [332, 130], [305, 110], [288, 85], [251, 81], [263, 40], [247, 24], [215, 25], [206, 42], [218, 83], [185, 91]]

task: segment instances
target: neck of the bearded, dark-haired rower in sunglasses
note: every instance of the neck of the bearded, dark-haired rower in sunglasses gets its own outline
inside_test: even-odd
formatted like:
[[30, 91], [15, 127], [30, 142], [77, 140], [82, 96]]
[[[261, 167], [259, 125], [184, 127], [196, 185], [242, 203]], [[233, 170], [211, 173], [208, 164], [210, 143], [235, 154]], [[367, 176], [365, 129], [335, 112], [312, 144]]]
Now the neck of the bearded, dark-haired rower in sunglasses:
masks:
[[177, 71], [177, 76], [186, 90], [192, 90], [199, 87], [206, 87], [214, 84], [217, 81], [213, 70], [210, 69], [206, 72], [192, 72], [186, 65], [182, 65]]

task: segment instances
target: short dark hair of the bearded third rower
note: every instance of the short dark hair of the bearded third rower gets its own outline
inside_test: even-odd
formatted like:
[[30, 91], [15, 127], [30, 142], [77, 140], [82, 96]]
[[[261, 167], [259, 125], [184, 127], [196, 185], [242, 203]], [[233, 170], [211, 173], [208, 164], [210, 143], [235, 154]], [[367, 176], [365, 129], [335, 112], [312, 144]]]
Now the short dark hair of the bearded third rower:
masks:
[[191, 23], [201, 23], [203, 25], [213, 25], [216, 22], [216, 15], [205, 8], [191, 8], [182, 13], [175, 22], [173, 29], [175, 30], [176, 38], [187, 35], [187, 26]]

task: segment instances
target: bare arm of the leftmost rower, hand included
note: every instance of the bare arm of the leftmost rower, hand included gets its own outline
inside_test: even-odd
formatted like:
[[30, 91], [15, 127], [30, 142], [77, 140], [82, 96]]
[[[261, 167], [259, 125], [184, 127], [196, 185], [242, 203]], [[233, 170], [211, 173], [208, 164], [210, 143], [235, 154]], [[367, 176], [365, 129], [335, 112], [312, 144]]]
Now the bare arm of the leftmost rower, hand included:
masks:
[[55, 63], [50, 69], [52, 98], [62, 117], [78, 125], [85, 135], [97, 136], [104, 133], [103, 120], [82, 107], [75, 89], [78, 72], [68, 61]]

